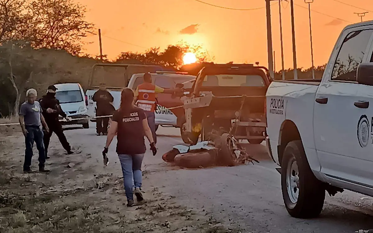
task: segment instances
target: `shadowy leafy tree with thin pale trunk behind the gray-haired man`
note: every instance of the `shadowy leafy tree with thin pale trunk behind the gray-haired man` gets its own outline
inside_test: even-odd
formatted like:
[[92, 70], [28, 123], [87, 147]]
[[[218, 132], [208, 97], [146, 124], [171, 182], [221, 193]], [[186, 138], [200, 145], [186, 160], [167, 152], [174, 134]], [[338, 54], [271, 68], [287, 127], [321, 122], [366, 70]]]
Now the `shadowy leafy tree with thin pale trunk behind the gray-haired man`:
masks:
[[44, 59], [51, 60], [45, 57], [42, 51], [35, 50], [22, 41], [9, 41], [0, 46], [1, 75], [10, 81], [15, 91], [14, 116], [18, 117], [21, 95], [25, 93], [26, 88], [35, 86], [37, 78], [34, 76], [46, 74], [48, 68], [53, 66], [50, 62], [43, 62]]

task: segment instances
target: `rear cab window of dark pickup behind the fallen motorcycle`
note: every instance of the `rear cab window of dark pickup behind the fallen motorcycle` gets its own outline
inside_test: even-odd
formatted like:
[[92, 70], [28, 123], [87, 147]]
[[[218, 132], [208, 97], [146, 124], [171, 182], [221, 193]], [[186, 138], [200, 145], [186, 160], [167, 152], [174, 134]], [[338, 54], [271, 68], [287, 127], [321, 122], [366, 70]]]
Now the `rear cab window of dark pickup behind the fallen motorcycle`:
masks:
[[218, 74], [206, 75], [203, 87], [265, 87], [260, 75]]

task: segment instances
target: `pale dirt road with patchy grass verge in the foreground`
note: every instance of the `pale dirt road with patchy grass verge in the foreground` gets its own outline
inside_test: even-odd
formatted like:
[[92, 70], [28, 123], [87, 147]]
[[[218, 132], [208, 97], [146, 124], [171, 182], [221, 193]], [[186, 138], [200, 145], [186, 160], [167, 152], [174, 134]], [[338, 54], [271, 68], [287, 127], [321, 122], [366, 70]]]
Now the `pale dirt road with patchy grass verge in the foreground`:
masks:
[[[78, 153], [64, 155], [53, 136], [53, 155], [48, 161], [52, 171], [48, 176], [21, 174], [21, 134], [6, 139], [4, 146], [13, 149], [7, 150], [7, 160], [1, 159], [0, 164], [0, 177], [4, 173], [9, 177], [0, 178], [7, 187], [0, 195], [0, 216], [10, 213], [12, 218], [10, 222], [1, 218], [0, 226], [28, 229], [33, 225], [55, 232], [67, 232], [56, 229], [69, 229], [76, 222], [81, 226], [76, 232], [352, 233], [373, 228], [373, 199], [348, 191], [327, 197], [318, 219], [289, 217], [283, 206], [280, 176], [263, 145], [250, 148], [261, 161], [256, 165], [186, 170], [166, 164], [162, 154], [182, 141], [177, 129], [162, 127], [157, 131], [159, 155], [147, 153], [144, 159], [143, 183], [149, 201], [129, 211], [122, 205], [125, 196], [115, 146], [109, 148], [110, 164], [103, 168], [100, 152], [105, 137], [95, 136], [92, 128], [65, 132]], [[14, 150], [19, 145], [21, 149]], [[36, 158], [34, 161], [36, 165]], [[71, 168], [67, 167], [69, 163]], [[7, 193], [15, 198], [4, 198]], [[47, 204], [41, 204], [42, 200]]]

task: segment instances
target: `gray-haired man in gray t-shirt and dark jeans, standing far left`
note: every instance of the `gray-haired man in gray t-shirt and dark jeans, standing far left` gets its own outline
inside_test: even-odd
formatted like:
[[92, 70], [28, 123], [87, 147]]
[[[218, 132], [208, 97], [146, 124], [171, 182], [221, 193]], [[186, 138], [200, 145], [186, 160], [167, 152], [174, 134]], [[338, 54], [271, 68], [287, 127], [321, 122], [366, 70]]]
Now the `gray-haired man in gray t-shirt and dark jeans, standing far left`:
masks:
[[42, 173], [48, 173], [49, 170], [45, 169], [46, 155], [43, 143], [43, 131], [41, 130], [41, 124], [43, 124], [46, 131], [49, 131], [48, 125], [46, 124], [43, 115], [41, 114], [40, 103], [35, 101], [37, 97], [37, 91], [35, 89], [29, 89], [26, 92], [26, 102], [22, 103], [21, 109], [19, 110], [19, 124], [21, 124], [23, 135], [25, 136], [25, 162], [23, 163], [23, 172], [31, 172], [31, 159], [34, 155], [32, 147], [34, 142], [39, 151], [39, 171]]

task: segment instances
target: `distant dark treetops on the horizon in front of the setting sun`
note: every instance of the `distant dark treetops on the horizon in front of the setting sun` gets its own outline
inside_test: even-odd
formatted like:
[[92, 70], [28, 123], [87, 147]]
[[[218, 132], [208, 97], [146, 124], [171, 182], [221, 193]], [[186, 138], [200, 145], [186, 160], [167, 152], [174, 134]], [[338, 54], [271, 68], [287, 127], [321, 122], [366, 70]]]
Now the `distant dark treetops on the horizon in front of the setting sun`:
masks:
[[163, 52], [160, 48], [151, 48], [145, 53], [123, 52], [114, 61], [116, 63], [126, 63], [129, 60], [137, 60], [147, 65], [162, 65], [174, 69], [179, 69], [183, 65], [182, 57], [185, 53], [192, 52], [196, 55], [198, 62], [206, 62], [210, 58], [206, 50], [200, 45], [189, 45], [183, 41], [176, 45], [169, 45]]

